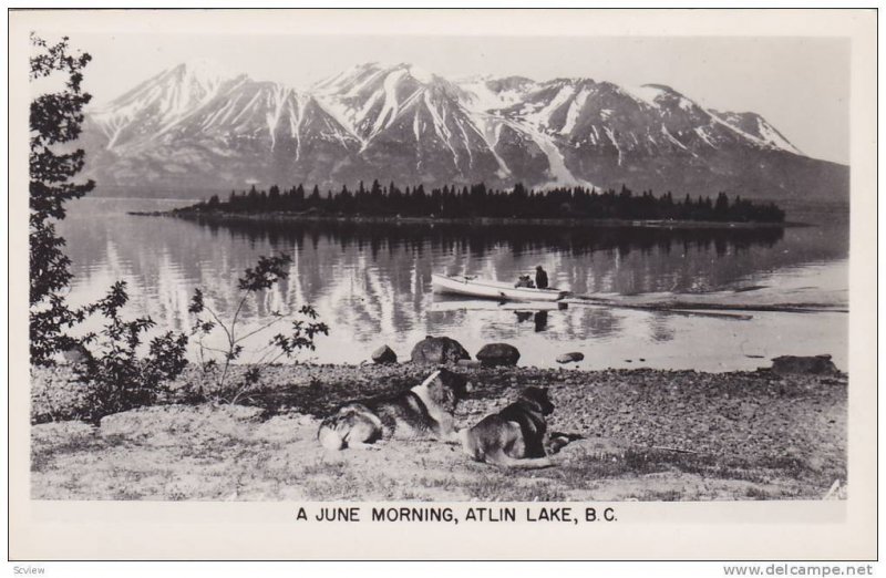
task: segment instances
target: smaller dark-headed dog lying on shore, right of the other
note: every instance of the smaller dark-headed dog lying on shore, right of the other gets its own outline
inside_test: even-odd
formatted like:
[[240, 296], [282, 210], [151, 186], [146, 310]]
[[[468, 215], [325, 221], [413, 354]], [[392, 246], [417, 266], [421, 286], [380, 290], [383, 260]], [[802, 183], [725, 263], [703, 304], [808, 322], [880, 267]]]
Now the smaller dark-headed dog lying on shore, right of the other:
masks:
[[459, 432], [462, 450], [472, 460], [506, 467], [554, 465], [545, 454], [545, 415], [550, 415], [546, 389], [526, 388], [516, 402]]

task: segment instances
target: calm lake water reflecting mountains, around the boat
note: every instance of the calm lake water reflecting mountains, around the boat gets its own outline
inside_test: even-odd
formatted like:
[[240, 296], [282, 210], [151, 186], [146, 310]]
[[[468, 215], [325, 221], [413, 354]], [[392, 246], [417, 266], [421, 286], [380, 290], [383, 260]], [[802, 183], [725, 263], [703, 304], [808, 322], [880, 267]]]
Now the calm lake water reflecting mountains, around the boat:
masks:
[[[70, 204], [60, 230], [85, 303], [127, 281], [130, 313], [159, 328], [189, 327], [195, 288], [229, 316], [237, 278], [260, 255], [292, 255], [290, 277], [243, 313], [244, 330], [270, 311], [312, 305], [331, 332], [317, 362], [359, 363], [382, 344], [408, 360], [427, 334], [450, 336], [472, 353], [488, 342], [516, 345], [522, 365], [555, 367], [580, 351], [583, 369], [730, 371], [767, 365], [781, 354], [830, 353], [847, 368], [848, 316], [751, 312], [752, 319], [570, 305], [548, 312], [433, 293], [432, 272], [515, 280], [542, 265], [550, 285], [619, 302], [670, 299], [728, 305], [848, 303], [848, 213], [791, 210], [812, 227], [667, 230], [455, 225], [248, 224], [209, 226], [126, 215], [188, 200], [84, 198]], [[269, 336], [258, 336], [255, 349]], [[250, 355], [244, 358], [248, 361]]]

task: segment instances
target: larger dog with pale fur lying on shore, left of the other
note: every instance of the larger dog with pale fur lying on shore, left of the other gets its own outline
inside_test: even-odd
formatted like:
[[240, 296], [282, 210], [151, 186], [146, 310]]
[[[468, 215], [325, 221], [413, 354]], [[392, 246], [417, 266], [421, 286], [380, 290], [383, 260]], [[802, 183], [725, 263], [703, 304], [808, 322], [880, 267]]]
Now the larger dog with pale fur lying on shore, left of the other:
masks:
[[391, 437], [456, 442], [453, 413], [471, 388], [464, 376], [439, 369], [409, 391], [346, 403], [323, 420], [317, 438], [328, 450], [365, 447]]

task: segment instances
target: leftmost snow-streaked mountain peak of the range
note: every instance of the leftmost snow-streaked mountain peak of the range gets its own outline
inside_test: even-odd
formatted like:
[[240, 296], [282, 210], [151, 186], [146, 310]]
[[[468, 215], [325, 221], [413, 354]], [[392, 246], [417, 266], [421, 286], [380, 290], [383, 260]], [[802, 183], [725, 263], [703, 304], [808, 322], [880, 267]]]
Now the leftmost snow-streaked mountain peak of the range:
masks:
[[323, 183], [359, 151], [359, 140], [311, 94], [212, 70], [177, 66], [91, 114], [96, 180], [154, 188]]

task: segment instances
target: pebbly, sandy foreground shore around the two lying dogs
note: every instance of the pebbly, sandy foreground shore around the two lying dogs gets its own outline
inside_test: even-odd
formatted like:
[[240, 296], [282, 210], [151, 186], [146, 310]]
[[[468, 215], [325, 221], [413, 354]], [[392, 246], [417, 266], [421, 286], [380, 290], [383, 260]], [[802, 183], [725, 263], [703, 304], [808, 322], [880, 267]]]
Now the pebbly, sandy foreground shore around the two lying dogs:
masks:
[[[316, 440], [338, 404], [416, 384], [410, 363], [271, 368], [240, 404], [166, 404], [62, 419], [79, 393], [65, 369], [32, 380], [32, 497], [205, 500], [712, 500], [821, 498], [846, 478], [845, 375], [653, 370], [471, 369], [460, 426], [527, 385], [550, 389], [550, 431], [580, 434], [555, 467], [505, 471], [433, 441], [329, 452]], [[64, 394], [59, 392], [65, 392]], [[845, 496], [844, 493], [841, 496]]]

